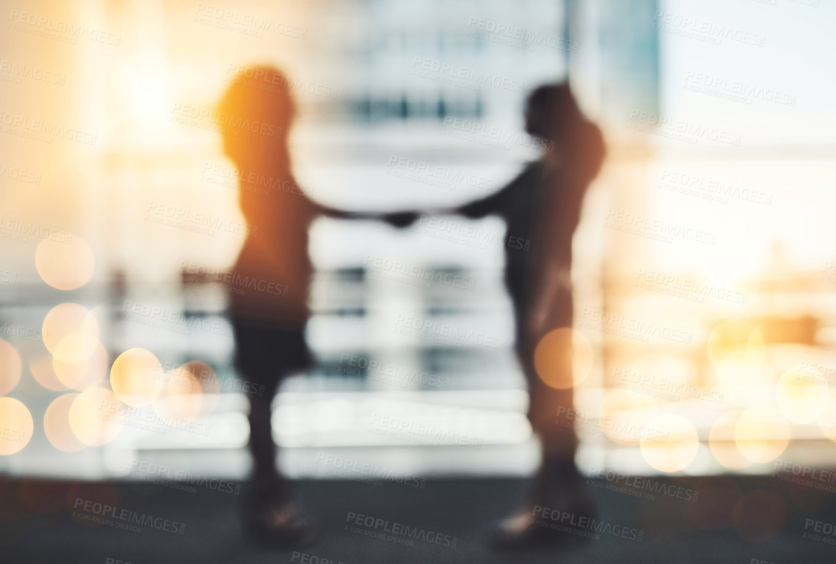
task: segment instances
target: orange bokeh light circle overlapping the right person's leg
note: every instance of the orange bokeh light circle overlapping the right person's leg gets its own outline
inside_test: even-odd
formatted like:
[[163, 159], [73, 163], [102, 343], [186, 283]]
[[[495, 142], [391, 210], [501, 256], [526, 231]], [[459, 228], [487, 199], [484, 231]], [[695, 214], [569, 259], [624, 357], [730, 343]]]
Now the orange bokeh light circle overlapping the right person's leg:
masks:
[[573, 388], [583, 382], [592, 371], [593, 360], [592, 343], [572, 328], [549, 331], [534, 349], [534, 368], [554, 389]]

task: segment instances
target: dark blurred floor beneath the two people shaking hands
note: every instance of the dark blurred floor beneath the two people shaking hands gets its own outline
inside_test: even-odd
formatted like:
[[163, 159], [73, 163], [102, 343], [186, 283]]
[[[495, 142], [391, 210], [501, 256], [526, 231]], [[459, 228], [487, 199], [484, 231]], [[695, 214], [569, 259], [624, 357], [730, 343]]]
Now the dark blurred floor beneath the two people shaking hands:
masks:
[[[788, 485], [772, 477], [653, 479], [645, 484], [656, 491], [651, 494], [655, 495], [653, 500], [608, 490], [606, 485], [609, 482], [599, 480], [590, 486], [599, 503], [599, 519], [606, 526], [627, 526], [627, 536], [644, 531], [642, 541], [602, 531], [599, 539], [579, 546], [502, 556], [488, 551], [483, 541], [492, 521], [520, 499], [526, 488], [524, 480], [433, 480], [424, 489], [396, 482], [372, 485], [355, 481], [300, 481], [298, 491], [304, 505], [319, 519], [322, 528], [319, 542], [301, 551], [309, 555], [303, 556], [292, 551], [263, 549], [242, 535], [238, 521], [238, 502], [242, 496], [222, 491], [232, 490], [234, 485], [198, 484], [190, 492], [150, 483], [0, 480], [0, 561], [26, 564], [121, 564], [119, 561], [330, 564], [331, 560], [334, 564], [506, 561], [813, 564], [836, 561], [836, 546], [826, 542], [836, 540], [836, 536], [832, 532], [824, 535], [814, 531], [816, 521], [836, 522], [833, 503], [836, 494], [816, 490], [813, 485]], [[666, 487], [668, 494], [665, 494], [659, 491], [662, 485], [675, 487]], [[629, 487], [634, 494], [640, 491], [633, 485]], [[695, 491], [699, 492], [696, 501], [685, 499], [694, 497]], [[88, 511], [84, 511], [83, 501], [74, 509], [76, 500], [90, 500]], [[118, 507], [110, 513], [122, 515], [124, 519], [111, 516], [111, 523], [129, 522], [125, 520], [130, 520], [130, 515], [140, 514], [145, 519], [153, 518], [153, 523], [164, 529], [179, 529], [181, 524], [185, 527], [179, 534], [155, 528], [145, 521], [141, 531], [136, 532], [83, 521], [80, 515], [89, 516], [96, 511], [93, 506], [96, 501]], [[122, 510], [126, 511], [122, 513]], [[425, 532], [413, 539], [414, 546], [365, 536], [362, 531], [346, 529], [349, 512], [380, 519], [384, 524], [378, 526], [378, 531], [391, 529], [397, 522]], [[818, 527], [821, 531], [832, 531], [832, 526], [822, 523]], [[395, 529], [400, 531], [400, 527]], [[441, 535], [438, 541], [441, 544], [425, 540], [435, 540], [436, 535], [430, 531]], [[826, 537], [825, 541], [805, 538], [805, 532]], [[452, 544], [454, 536], [455, 548], [443, 546]], [[400, 538], [405, 537], [400, 535]]]

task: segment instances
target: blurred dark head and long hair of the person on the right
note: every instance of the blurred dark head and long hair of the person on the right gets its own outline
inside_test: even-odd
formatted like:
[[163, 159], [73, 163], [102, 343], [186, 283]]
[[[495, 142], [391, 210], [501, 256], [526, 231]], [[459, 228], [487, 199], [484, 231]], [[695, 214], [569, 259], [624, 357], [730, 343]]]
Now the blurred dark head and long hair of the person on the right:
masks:
[[543, 84], [528, 94], [525, 130], [551, 141], [549, 157], [563, 162], [578, 180], [589, 181], [604, 160], [604, 138], [598, 126], [584, 117], [565, 82]]

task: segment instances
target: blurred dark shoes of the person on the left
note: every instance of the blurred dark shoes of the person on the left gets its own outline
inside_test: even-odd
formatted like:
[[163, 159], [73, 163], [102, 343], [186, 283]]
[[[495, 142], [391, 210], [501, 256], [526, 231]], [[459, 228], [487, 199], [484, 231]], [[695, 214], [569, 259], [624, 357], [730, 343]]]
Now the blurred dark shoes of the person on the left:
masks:
[[244, 520], [257, 542], [274, 548], [303, 548], [313, 544], [318, 536], [314, 519], [292, 502], [251, 507]]

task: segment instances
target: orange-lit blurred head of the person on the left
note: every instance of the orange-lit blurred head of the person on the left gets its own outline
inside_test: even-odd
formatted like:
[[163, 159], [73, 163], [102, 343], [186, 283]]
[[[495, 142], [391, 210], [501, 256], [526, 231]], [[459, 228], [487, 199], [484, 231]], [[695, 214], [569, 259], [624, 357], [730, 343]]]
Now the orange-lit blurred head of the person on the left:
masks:
[[217, 106], [223, 151], [237, 165], [286, 164], [296, 114], [288, 79], [268, 66], [241, 71]]

